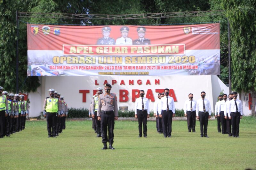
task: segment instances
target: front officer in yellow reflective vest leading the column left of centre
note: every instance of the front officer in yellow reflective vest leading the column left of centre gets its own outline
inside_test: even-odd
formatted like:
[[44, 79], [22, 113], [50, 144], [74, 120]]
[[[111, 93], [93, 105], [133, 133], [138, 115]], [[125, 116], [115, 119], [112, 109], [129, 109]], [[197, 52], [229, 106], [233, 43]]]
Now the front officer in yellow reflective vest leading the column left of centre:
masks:
[[59, 111], [59, 99], [54, 97], [54, 89], [49, 89], [50, 97], [44, 100], [44, 117], [47, 120], [48, 137], [56, 137], [57, 115]]

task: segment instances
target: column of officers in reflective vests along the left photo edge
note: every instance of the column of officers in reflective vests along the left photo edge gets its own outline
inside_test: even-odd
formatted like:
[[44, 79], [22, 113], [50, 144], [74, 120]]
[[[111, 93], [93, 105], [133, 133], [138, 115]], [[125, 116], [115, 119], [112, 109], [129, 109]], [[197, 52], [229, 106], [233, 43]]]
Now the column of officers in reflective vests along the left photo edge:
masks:
[[29, 108], [23, 94], [9, 94], [3, 90], [0, 86], [0, 138], [10, 137], [13, 133], [25, 129]]

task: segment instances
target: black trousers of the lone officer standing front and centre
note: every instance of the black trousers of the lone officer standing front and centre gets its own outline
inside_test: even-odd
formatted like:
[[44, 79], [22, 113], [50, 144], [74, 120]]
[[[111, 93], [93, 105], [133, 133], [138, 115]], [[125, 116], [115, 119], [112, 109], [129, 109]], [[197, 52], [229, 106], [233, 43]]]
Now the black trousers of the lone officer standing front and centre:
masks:
[[114, 111], [110, 114], [101, 113], [100, 125], [102, 129], [102, 143], [112, 144], [114, 142], [114, 126], [115, 126], [115, 115]]

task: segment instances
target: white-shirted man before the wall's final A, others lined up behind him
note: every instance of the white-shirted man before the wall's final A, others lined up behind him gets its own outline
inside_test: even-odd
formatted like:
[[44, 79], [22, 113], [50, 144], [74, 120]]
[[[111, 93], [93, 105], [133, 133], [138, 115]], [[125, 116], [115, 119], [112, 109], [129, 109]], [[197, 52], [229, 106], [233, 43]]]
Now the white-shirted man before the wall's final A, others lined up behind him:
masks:
[[159, 117], [163, 119], [164, 137], [171, 137], [172, 133], [172, 117], [175, 116], [174, 100], [169, 96], [169, 89], [164, 89], [164, 97], [161, 98], [158, 107]]

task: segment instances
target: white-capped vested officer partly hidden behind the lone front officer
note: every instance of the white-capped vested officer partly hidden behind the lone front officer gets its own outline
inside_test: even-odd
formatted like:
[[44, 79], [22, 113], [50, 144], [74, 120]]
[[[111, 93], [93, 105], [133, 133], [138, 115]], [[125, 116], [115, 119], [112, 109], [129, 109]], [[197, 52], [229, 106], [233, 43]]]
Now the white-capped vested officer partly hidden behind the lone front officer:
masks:
[[102, 94], [102, 88], [98, 87], [97, 88], [97, 94], [94, 96], [92, 100], [92, 118], [94, 118], [94, 124], [96, 125], [96, 131], [97, 131], [97, 136], [96, 137], [101, 137], [101, 131], [100, 131], [100, 121], [98, 120], [97, 112], [98, 112], [98, 105], [99, 105], [99, 95]]

